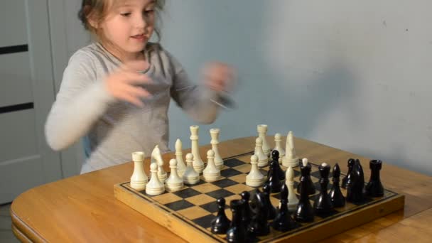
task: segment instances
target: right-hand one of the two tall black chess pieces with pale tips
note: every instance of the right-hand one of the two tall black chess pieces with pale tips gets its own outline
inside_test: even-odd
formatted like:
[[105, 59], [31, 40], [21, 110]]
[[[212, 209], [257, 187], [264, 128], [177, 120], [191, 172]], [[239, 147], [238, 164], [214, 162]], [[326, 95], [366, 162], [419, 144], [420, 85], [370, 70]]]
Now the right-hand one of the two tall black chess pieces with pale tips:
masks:
[[333, 204], [330, 200], [330, 196], [327, 193], [328, 186], [328, 175], [330, 174], [330, 166], [325, 164], [325, 166], [318, 166], [320, 171], [320, 195], [318, 200], [313, 202], [313, 209], [316, 215], [326, 215], [333, 210]]

